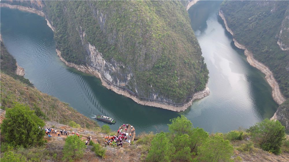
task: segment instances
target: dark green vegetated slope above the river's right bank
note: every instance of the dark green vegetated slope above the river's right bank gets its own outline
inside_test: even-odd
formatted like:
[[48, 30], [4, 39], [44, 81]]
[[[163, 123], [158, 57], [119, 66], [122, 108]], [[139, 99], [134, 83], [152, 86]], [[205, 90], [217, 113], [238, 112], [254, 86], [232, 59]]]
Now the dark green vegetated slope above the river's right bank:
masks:
[[[288, 2], [224, 1], [221, 10], [233, 37], [269, 67], [281, 92], [288, 98], [288, 51], [281, 50], [277, 44], [282, 21], [288, 17]], [[283, 34], [286, 37], [285, 31]]]

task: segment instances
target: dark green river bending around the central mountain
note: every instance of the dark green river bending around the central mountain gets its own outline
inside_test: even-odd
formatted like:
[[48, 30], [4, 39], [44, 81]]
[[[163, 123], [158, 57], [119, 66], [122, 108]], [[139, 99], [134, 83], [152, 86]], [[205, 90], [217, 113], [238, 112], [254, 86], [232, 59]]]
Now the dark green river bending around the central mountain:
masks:
[[188, 11], [210, 71], [211, 93], [181, 113], [138, 105], [103, 87], [98, 78], [67, 67], [57, 56], [53, 32], [41, 16], [1, 7], [1, 35], [7, 50], [25, 69], [25, 78], [38, 90], [90, 118], [97, 114], [113, 117], [113, 130], [129, 123], [136, 133], [167, 131], [169, 119], [185, 115], [195, 127], [228, 132], [271, 118], [278, 105], [264, 74], [247, 63], [225, 31], [217, 16], [220, 3], [199, 1]]

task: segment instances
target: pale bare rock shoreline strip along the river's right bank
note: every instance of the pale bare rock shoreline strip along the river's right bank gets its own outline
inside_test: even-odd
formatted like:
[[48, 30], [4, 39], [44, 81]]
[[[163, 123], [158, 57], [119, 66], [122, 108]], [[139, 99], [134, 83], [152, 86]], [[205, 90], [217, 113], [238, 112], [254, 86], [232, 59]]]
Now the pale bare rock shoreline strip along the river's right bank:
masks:
[[[223, 15], [222, 10], [219, 11], [219, 16], [222, 18], [222, 20], [224, 21], [226, 30], [232, 35], [234, 36], [233, 31], [228, 27], [227, 25], [227, 21], [225, 19], [225, 16]], [[243, 46], [242, 44], [238, 43], [237, 40], [233, 37], [233, 41], [236, 47], [244, 50], [244, 54], [245, 56], [247, 56], [247, 61], [248, 63], [257, 68], [258, 70], [260, 70], [263, 74], [265, 74], [265, 79], [268, 82], [268, 84], [271, 86], [272, 88], [272, 97], [274, 99], [274, 101], [276, 103], [278, 103], [279, 105], [282, 104], [284, 101], [286, 101], [285, 97], [282, 95], [280, 89], [279, 89], [279, 84], [276, 81], [276, 79], [273, 76], [273, 73], [270, 71], [270, 69], [265, 66], [264, 64], [260, 63], [259, 61], [255, 60], [253, 57], [253, 53], [250, 52], [249, 50], [247, 50], [247, 48], [245, 46]]]

